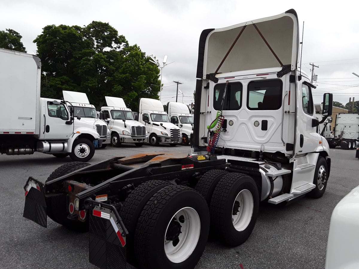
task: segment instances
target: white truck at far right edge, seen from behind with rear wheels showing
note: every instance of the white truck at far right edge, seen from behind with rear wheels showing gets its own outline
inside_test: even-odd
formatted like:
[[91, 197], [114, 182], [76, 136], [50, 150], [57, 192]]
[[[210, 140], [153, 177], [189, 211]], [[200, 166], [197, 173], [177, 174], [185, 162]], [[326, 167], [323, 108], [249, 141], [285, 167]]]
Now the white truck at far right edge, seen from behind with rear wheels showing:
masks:
[[335, 118], [334, 138], [328, 138], [329, 147], [340, 146], [353, 150], [359, 141], [359, 113], [338, 113]]

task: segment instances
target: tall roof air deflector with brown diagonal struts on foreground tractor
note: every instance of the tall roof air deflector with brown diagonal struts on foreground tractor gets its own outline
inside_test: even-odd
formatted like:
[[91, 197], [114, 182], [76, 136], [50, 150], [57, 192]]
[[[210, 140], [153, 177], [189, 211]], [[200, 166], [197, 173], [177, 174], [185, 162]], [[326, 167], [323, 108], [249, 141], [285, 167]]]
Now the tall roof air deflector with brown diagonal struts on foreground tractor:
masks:
[[294, 9], [225, 28], [203, 30], [197, 78], [211, 79], [218, 73], [271, 67], [294, 70], [298, 62], [298, 32]]

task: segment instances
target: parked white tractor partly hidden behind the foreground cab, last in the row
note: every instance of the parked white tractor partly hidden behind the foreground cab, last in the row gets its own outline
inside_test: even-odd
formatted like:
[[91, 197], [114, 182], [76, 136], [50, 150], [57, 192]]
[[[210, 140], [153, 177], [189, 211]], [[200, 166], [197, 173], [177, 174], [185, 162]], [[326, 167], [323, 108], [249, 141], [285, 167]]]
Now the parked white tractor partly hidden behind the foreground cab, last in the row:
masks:
[[167, 103], [167, 114], [170, 121], [180, 127], [182, 133], [182, 145], [188, 146], [193, 133], [193, 115], [187, 105], [178, 102]]

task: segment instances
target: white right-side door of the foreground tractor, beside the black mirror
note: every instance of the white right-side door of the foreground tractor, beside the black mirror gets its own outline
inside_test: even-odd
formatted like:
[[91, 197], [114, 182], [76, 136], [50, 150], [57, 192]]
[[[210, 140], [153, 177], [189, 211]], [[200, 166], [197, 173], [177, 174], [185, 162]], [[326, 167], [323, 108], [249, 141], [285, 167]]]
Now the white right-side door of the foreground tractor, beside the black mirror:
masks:
[[312, 88], [305, 83], [305, 81], [300, 82], [298, 89], [297, 124], [294, 134], [295, 154], [315, 151], [320, 146], [321, 140], [316, 127], [312, 127], [312, 119], [315, 118]]

